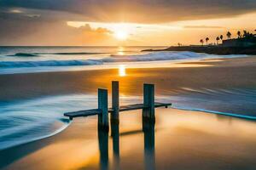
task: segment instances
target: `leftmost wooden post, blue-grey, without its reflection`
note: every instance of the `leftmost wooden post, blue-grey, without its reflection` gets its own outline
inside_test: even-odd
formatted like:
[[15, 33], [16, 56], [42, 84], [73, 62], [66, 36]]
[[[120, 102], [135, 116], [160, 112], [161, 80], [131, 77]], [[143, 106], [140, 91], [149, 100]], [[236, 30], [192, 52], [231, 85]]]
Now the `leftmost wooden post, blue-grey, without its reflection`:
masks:
[[98, 109], [102, 110], [98, 115], [98, 126], [108, 130], [108, 90], [98, 89]]

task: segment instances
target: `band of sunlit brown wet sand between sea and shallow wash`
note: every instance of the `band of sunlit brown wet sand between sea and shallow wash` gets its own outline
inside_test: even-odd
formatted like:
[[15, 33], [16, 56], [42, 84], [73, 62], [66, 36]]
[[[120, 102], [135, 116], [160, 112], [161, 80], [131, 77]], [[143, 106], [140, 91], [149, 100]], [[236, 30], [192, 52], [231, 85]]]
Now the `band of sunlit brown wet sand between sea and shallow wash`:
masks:
[[176, 94], [181, 88], [255, 88], [256, 57], [208, 59], [164, 65], [164, 68], [43, 72], [0, 75], [0, 100], [32, 99], [58, 94], [96, 94], [119, 80], [124, 95], [142, 94], [144, 82], [154, 83], [157, 94]]

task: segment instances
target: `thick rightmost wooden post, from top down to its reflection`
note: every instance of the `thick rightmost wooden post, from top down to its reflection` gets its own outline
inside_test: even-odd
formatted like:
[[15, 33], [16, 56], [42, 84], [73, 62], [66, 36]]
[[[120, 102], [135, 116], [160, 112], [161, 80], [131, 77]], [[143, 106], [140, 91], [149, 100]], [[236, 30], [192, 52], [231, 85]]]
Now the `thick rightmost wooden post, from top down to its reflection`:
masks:
[[143, 105], [143, 118], [154, 118], [154, 84], [144, 84]]

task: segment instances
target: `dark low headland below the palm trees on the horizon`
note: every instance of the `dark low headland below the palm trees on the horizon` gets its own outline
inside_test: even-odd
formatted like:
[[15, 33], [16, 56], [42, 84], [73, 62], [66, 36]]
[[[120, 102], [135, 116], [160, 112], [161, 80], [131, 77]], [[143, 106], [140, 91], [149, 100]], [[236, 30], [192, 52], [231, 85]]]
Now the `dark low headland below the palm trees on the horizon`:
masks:
[[195, 53], [229, 55], [256, 55], [256, 46], [252, 47], [223, 47], [223, 46], [172, 46], [164, 49], [144, 49], [143, 51], [190, 51]]

